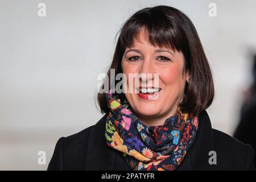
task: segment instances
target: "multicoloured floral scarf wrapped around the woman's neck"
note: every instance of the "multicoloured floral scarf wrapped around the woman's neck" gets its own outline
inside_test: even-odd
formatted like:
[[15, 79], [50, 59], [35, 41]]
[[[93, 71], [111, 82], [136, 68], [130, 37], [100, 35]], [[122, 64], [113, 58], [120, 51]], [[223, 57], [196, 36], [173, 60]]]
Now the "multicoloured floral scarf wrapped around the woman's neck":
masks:
[[105, 139], [109, 147], [123, 152], [133, 170], [168, 170], [179, 166], [193, 143], [198, 119], [180, 108], [164, 125], [146, 126], [132, 112], [125, 97], [107, 93], [109, 115]]

